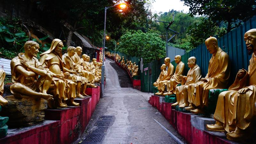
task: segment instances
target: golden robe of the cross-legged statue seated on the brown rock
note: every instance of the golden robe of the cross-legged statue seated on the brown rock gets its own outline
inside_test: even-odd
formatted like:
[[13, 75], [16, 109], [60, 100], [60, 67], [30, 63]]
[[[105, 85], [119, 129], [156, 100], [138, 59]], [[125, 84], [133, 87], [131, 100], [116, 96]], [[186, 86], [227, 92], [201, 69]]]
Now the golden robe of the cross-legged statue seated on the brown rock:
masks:
[[[11, 85], [10, 87], [10, 91], [13, 94], [18, 94], [13, 92], [12, 87], [13, 85], [20, 83], [25, 85], [26, 87], [32, 89], [35, 92], [41, 92], [42, 91], [42, 85], [44, 83], [45, 80], [45, 76], [40, 76], [38, 74], [36, 74], [33, 77], [25, 77], [24, 75], [20, 74], [18, 72], [18, 70], [16, 70], [17, 66], [21, 66], [23, 68], [25, 68], [27, 71], [31, 71], [30, 69], [24, 67], [20, 61], [23, 60], [24, 57], [24, 53], [19, 53], [17, 57], [13, 58], [11, 61], [11, 74], [12, 74], [12, 82], [14, 84]], [[35, 58], [32, 58], [35, 61], [35, 68], [39, 68], [42, 67], [42, 64]], [[46, 71], [48, 71], [49, 69], [45, 69]]]

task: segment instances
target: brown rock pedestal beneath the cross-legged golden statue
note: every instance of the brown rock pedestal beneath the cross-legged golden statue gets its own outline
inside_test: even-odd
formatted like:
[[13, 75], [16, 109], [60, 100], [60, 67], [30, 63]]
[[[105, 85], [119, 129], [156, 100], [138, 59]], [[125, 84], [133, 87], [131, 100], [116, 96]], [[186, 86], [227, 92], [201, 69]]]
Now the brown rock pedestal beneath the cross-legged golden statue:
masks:
[[9, 117], [8, 126], [31, 126], [44, 121], [44, 110], [47, 109], [46, 100], [28, 96], [16, 99], [13, 95], [6, 96], [5, 100], [8, 104], [3, 107], [0, 115]]

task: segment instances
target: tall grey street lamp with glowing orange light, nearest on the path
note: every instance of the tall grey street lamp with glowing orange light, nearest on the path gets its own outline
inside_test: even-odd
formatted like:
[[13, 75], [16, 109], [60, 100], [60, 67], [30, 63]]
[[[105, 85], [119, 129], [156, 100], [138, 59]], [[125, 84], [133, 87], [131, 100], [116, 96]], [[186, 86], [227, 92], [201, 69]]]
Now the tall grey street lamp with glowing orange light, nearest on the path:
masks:
[[106, 37], [106, 14], [107, 14], [107, 9], [111, 8], [111, 7], [116, 7], [116, 8], [120, 8], [123, 9], [125, 8], [127, 5], [124, 2], [121, 3], [117, 3], [113, 6], [110, 7], [106, 7], [105, 6], [105, 16], [104, 16], [104, 33], [103, 33], [103, 52], [102, 52], [102, 69], [101, 69], [101, 95], [100, 97], [103, 97], [103, 93], [104, 93], [104, 75], [105, 75], [105, 65], [104, 65], [104, 58], [105, 58], [105, 37]]

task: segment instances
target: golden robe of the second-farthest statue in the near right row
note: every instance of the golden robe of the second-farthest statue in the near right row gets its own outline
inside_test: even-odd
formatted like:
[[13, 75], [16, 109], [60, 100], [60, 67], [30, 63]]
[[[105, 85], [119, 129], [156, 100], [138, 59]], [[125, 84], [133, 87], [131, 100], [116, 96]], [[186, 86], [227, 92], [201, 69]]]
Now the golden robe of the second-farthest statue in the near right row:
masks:
[[172, 65], [172, 63], [170, 63], [167, 66], [167, 76], [166, 78], [162, 79], [159, 81], [158, 84], [158, 91], [164, 92], [165, 89], [165, 85], [167, 84], [167, 82], [171, 79], [172, 75], [174, 73], [174, 66]]

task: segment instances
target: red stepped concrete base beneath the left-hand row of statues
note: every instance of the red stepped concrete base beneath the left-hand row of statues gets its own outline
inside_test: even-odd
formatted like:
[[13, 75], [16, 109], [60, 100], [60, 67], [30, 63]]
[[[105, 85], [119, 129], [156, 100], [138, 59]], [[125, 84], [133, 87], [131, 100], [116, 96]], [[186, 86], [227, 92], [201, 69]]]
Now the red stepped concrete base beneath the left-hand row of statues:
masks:
[[[70, 144], [82, 134], [100, 101], [100, 87], [87, 88], [86, 94], [91, 98], [75, 101], [79, 107], [45, 110], [43, 124], [20, 129], [9, 129], [0, 143], [11, 144]], [[13, 132], [12, 132], [13, 131]]]

